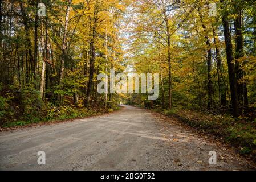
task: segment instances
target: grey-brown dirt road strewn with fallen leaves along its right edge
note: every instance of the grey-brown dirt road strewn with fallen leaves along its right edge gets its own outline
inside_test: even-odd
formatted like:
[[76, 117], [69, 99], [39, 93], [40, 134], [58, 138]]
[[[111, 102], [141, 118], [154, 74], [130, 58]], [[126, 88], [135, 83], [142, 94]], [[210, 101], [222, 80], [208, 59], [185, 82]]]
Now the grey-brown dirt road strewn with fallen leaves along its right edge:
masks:
[[[245, 160], [150, 111], [124, 106], [100, 117], [0, 133], [1, 170], [241, 170]], [[38, 151], [46, 164], [38, 165]], [[217, 152], [210, 165], [209, 151]]]

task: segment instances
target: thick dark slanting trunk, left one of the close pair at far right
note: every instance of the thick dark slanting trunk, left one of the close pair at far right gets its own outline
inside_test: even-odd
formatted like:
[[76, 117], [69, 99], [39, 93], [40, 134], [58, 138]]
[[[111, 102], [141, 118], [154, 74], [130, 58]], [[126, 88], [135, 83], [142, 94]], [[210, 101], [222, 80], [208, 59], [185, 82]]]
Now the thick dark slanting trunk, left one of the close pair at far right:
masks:
[[[224, 2], [224, 0], [221, 0]], [[231, 102], [233, 107], [233, 117], [238, 117], [239, 106], [238, 106], [238, 96], [237, 96], [237, 78], [235, 76], [235, 65], [233, 63], [233, 46], [231, 42], [231, 34], [229, 31], [229, 19], [227, 11], [222, 15], [222, 24], [224, 28], [224, 37], [226, 44], [226, 56], [227, 56], [227, 67], [229, 69], [229, 84], [231, 93]]]

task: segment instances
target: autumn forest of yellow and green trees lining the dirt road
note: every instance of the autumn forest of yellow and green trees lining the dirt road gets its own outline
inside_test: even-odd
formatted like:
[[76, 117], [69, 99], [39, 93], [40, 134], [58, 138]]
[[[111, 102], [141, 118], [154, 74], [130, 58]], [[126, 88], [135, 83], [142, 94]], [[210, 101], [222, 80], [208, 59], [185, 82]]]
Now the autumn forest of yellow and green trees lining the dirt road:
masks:
[[[0, 2], [1, 127], [128, 104], [255, 150], [254, 0]], [[159, 98], [99, 94], [97, 75], [111, 69], [158, 73]]]

